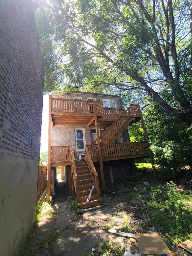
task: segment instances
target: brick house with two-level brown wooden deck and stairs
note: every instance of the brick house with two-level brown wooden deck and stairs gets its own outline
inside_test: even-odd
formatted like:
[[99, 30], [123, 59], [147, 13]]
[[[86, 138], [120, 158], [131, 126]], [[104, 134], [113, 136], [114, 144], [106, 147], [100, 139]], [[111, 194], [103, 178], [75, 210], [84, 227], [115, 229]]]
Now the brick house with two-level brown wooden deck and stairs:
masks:
[[[131, 143], [129, 125], [141, 121], [145, 141]], [[150, 157], [139, 104], [122, 107], [121, 96], [52, 92], [49, 99], [48, 197], [61, 166], [70, 193], [81, 208], [101, 204], [100, 189], [126, 179], [136, 158]], [[94, 185], [89, 203], [86, 199]]]

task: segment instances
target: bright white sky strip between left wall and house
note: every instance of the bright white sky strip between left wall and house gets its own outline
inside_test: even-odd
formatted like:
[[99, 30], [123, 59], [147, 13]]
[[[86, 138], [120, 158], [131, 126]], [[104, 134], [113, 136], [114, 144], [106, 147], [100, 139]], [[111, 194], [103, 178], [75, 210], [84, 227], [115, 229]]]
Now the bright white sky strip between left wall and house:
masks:
[[48, 124], [49, 124], [49, 95], [43, 97], [43, 112], [41, 126], [41, 152], [48, 150]]

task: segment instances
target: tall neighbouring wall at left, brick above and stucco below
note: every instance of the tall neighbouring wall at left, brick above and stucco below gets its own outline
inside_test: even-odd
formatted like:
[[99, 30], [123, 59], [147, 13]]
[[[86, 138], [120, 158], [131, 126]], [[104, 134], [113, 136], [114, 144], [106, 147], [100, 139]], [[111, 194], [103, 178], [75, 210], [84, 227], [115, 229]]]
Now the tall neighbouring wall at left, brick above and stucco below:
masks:
[[44, 72], [31, 0], [0, 1], [0, 254], [35, 221]]

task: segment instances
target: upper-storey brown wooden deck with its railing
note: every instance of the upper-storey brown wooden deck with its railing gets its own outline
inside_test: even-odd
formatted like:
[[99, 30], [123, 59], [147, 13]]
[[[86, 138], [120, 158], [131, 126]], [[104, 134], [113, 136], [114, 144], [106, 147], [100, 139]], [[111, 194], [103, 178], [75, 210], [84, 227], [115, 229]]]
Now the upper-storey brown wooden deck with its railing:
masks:
[[51, 113], [52, 127], [56, 125], [87, 125], [95, 122], [98, 116], [99, 125], [111, 125], [120, 116], [134, 117], [134, 121], [142, 117], [139, 104], [125, 109], [103, 107], [101, 101], [82, 101], [50, 97], [49, 113]]

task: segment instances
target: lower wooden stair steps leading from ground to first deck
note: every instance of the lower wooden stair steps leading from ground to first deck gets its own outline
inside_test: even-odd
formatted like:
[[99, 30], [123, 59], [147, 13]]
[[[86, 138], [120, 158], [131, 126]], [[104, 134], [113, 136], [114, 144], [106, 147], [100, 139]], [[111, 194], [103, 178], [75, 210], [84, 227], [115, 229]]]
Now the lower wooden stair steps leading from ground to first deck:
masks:
[[94, 185], [86, 160], [75, 161], [75, 165], [78, 179], [78, 198], [76, 198], [77, 205], [80, 206], [81, 209], [101, 205], [102, 202], [100, 194], [96, 193], [95, 188], [91, 194], [90, 201], [88, 203], [86, 202], [89, 192], [91, 191], [91, 187]]

